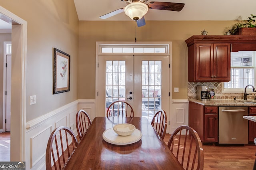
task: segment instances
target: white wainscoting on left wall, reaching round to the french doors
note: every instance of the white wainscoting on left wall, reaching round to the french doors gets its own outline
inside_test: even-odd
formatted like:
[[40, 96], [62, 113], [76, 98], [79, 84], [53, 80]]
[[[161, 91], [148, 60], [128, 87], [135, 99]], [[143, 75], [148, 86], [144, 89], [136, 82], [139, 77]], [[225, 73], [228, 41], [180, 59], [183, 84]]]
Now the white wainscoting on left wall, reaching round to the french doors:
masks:
[[52, 131], [59, 126], [71, 127], [76, 132], [76, 112], [84, 109], [93, 120], [95, 113], [94, 99], [78, 99], [68, 103], [42, 117], [26, 122], [26, 169], [45, 170], [46, 146]]

